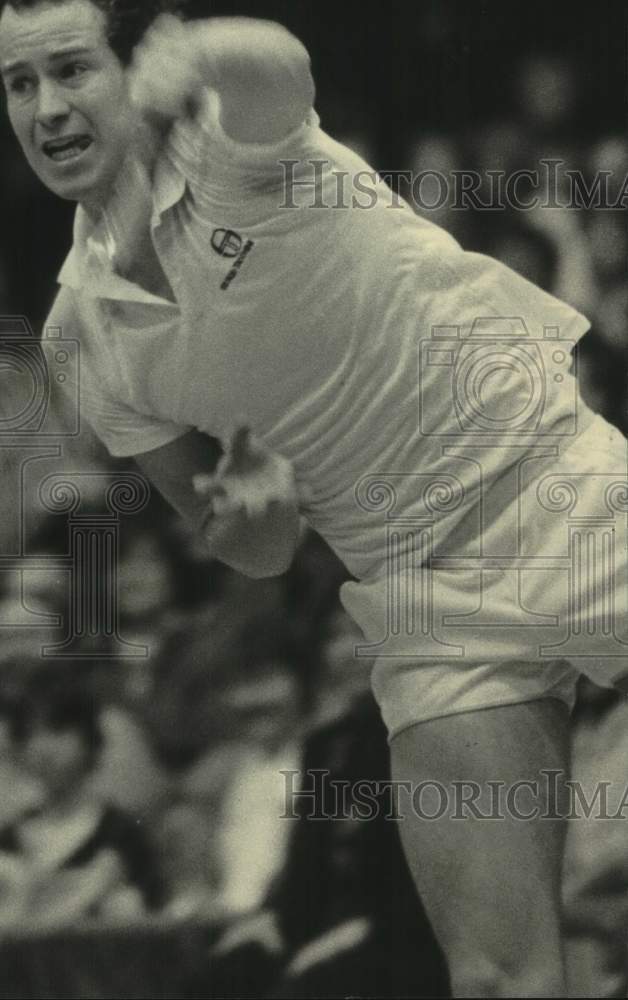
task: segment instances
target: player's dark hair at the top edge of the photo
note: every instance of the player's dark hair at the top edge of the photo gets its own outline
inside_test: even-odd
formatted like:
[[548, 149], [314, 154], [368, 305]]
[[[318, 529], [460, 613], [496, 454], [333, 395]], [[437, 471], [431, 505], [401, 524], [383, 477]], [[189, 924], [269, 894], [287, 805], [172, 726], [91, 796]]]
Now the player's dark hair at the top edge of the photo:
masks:
[[[28, 10], [67, 0], [0, 0], [0, 14], [5, 7]], [[160, 14], [180, 14], [186, 0], [88, 0], [107, 18], [107, 40], [124, 66], [128, 66], [135, 46], [142, 40]]]

